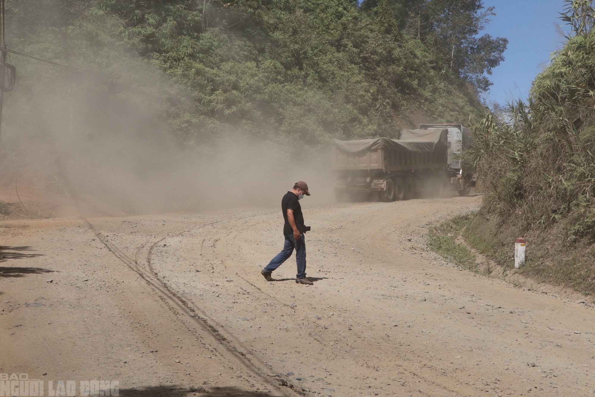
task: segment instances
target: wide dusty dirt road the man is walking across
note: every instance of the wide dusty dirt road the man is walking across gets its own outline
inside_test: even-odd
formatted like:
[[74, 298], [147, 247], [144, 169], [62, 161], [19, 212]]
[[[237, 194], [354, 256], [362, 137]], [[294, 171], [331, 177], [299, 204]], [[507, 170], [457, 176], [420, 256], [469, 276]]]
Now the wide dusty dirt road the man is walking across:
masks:
[[593, 309], [424, 250], [428, 225], [480, 199], [306, 198], [314, 286], [294, 258], [260, 274], [283, 245], [276, 208], [2, 222], [0, 377], [45, 395], [68, 380], [77, 395], [92, 380], [126, 396], [591, 393]]

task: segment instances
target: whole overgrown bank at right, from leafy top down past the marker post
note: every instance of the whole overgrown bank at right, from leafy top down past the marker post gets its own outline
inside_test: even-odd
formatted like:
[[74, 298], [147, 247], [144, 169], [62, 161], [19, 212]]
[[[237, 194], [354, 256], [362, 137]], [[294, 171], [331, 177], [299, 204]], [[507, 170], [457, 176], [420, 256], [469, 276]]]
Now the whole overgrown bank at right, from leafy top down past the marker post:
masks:
[[595, 293], [592, 4], [566, 1], [565, 45], [534, 80], [526, 103], [516, 101], [478, 123], [468, 153], [486, 193], [471, 225], [482, 251], [511, 258], [511, 241], [525, 235], [531, 238], [526, 275], [585, 293]]

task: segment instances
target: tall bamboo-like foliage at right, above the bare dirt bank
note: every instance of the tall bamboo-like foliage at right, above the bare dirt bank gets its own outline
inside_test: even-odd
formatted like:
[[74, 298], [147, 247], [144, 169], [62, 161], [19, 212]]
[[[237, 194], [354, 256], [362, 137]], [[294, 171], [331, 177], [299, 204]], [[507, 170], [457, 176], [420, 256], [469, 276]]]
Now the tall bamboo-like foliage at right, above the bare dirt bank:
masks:
[[[575, 26], [591, 26], [581, 23]], [[491, 212], [520, 215], [526, 225], [572, 219], [569, 241], [595, 237], [594, 32], [568, 39], [534, 81], [527, 103], [488, 112], [467, 154]]]

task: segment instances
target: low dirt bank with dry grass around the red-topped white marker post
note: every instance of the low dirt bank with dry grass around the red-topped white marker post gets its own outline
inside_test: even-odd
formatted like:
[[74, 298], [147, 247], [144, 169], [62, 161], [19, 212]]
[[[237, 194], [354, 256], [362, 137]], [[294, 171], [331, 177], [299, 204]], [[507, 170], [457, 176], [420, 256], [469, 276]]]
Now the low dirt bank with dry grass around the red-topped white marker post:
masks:
[[[593, 238], [574, 238], [573, 226], [572, 219], [563, 219], [552, 225], [523, 228], [521, 219], [503, 219], [480, 210], [462, 230], [459, 242], [464, 240], [477, 254], [482, 271], [491, 277], [591, 303], [595, 296]], [[527, 240], [527, 262], [521, 269], [513, 268], [513, 241], [517, 237]]]

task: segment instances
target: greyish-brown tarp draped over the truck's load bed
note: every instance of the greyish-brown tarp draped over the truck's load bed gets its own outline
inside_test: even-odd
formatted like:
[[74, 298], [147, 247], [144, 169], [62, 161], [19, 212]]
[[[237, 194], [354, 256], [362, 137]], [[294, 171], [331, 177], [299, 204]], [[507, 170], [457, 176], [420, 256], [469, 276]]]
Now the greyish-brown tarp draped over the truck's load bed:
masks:
[[448, 130], [444, 129], [402, 129], [399, 139], [375, 138], [358, 139], [356, 141], [339, 141], [333, 139], [341, 151], [346, 153], [359, 153], [370, 149], [388, 149], [398, 151], [411, 151], [424, 153], [434, 151], [436, 145], [446, 145]]

